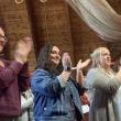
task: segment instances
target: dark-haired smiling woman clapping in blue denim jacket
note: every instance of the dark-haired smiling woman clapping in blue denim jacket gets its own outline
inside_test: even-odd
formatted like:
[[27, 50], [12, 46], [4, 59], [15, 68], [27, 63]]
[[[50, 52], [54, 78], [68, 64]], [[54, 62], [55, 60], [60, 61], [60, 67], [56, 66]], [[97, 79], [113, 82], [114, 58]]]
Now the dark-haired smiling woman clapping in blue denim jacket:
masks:
[[[36, 69], [31, 80], [35, 121], [82, 120], [79, 95], [84, 94], [85, 88], [70, 78], [72, 61], [68, 53], [63, 54], [62, 62], [59, 54], [59, 48], [51, 44], [46, 44], [38, 54]], [[89, 62], [79, 61], [78, 75]], [[58, 68], [59, 63], [63, 70]]]

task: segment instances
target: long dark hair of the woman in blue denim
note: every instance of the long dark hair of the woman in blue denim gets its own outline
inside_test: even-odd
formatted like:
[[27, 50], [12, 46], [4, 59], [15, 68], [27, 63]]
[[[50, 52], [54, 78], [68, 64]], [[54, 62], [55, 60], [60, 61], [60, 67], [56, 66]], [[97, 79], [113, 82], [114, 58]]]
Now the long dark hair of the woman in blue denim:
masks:
[[36, 69], [37, 68], [42, 68], [45, 70], [50, 69], [48, 57], [50, 57], [50, 54], [52, 53], [52, 48], [53, 48], [53, 45], [51, 44], [45, 44], [42, 47], [37, 56]]

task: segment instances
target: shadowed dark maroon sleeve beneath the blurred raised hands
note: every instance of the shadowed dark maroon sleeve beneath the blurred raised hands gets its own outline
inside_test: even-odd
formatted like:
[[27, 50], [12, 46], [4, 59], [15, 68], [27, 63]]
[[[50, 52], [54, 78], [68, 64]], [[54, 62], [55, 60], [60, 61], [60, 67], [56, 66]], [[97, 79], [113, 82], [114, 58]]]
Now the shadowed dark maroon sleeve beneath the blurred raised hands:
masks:
[[25, 63], [18, 75], [20, 91], [25, 91], [30, 88], [29, 63]]

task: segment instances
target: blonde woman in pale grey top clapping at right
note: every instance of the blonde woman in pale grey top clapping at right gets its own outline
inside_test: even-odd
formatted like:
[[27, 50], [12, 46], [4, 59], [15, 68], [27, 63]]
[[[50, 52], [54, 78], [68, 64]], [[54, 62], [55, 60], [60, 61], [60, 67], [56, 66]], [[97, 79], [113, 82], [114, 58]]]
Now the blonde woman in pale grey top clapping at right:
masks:
[[90, 111], [89, 121], [121, 121], [114, 107], [114, 96], [121, 85], [121, 69], [111, 69], [111, 56], [107, 47], [98, 47], [90, 55], [92, 66], [86, 77]]

